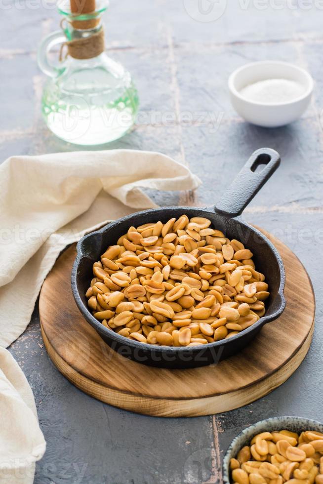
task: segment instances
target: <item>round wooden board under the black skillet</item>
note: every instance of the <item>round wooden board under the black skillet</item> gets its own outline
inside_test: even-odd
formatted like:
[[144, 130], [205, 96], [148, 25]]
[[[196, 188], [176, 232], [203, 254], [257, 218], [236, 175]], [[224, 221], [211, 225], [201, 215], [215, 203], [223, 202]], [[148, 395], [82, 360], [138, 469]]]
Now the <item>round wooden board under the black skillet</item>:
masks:
[[120, 356], [83, 319], [74, 302], [70, 282], [74, 244], [57, 259], [40, 292], [41, 332], [49, 357], [83, 392], [147, 415], [208, 415], [263, 397], [281, 385], [308, 352], [315, 298], [293, 252], [262, 232], [283, 258], [287, 304], [283, 315], [265, 325], [241, 353], [218, 364], [185, 370], [155, 368]]

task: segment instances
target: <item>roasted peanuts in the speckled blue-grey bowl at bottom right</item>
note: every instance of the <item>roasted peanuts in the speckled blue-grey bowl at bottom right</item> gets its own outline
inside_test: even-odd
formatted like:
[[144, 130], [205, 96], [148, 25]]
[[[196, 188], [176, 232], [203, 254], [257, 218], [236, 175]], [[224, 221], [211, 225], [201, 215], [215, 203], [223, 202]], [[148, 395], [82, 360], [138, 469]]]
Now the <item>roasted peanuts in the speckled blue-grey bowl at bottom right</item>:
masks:
[[237, 484], [323, 484], [323, 434], [262, 432], [230, 460]]

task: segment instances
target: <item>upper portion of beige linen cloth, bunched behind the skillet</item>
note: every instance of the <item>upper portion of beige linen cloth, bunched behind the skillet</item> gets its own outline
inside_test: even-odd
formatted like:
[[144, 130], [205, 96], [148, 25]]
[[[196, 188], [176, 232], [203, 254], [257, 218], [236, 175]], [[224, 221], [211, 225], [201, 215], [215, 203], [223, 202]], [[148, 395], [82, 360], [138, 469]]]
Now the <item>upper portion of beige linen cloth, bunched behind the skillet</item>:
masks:
[[[30, 321], [60, 251], [134, 209], [155, 205], [139, 187], [195, 189], [200, 180], [160, 153], [111, 150], [11, 157], [0, 165], [0, 346]], [[131, 207], [131, 208], [129, 208]]]

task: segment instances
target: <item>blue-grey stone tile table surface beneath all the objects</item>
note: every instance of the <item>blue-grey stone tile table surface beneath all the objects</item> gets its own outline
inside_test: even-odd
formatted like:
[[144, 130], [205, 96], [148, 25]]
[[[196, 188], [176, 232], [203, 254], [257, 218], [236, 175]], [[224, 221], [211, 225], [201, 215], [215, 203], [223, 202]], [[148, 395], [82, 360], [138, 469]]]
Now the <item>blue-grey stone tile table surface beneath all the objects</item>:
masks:
[[[157, 150], [188, 164], [203, 182], [197, 193], [153, 196], [160, 204], [200, 206], [219, 199], [252, 151], [278, 150], [281, 167], [245, 218], [278, 236], [307, 268], [317, 298], [313, 344], [292, 377], [257, 402], [214, 416], [153, 418], [105, 405], [71, 385], [46, 354], [35, 309], [10, 351], [33, 389], [47, 441], [36, 484], [221, 483], [223, 453], [249, 424], [277, 415], [323, 420], [323, 5], [221, 0], [215, 2], [226, 7], [220, 18], [204, 22], [212, 20], [206, 18], [212, 2], [201, 1], [196, 18], [198, 0], [111, 0], [110, 55], [131, 71], [141, 111], [135, 129], [106, 148]], [[40, 116], [44, 76], [36, 49], [58, 27], [53, 3], [3, 0], [0, 8], [0, 160], [78, 150], [55, 138]], [[230, 105], [229, 74], [263, 59], [294, 62], [315, 79], [310, 108], [289, 126], [249, 125]]]

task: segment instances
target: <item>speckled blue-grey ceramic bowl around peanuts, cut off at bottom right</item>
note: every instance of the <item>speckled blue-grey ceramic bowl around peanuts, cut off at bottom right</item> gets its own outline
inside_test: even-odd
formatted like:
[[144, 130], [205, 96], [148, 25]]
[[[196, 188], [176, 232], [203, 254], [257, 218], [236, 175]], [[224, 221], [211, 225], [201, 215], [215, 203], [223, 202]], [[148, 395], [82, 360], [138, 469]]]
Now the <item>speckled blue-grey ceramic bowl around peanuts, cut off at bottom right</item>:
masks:
[[230, 484], [230, 459], [237, 458], [239, 450], [248, 445], [251, 439], [261, 432], [273, 432], [274, 430], [290, 430], [301, 433], [305, 430], [316, 430], [323, 433], [323, 424], [315, 420], [302, 417], [273, 417], [260, 420], [250, 427], [242, 430], [231, 443], [223, 459], [223, 483]]

